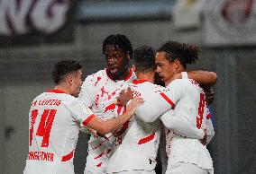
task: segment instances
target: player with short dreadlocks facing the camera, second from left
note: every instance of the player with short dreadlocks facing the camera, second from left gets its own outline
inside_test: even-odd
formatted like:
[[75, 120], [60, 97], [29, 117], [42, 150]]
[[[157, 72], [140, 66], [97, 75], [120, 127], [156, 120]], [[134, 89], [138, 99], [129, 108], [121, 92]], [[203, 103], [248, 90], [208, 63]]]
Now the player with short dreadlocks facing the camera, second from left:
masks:
[[[116, 105], [116, 96], [124, 83], [136, 79], [129, 61], [133, 57], [133, 47], [126, 36], [117, 34], [108, 36], [102, 47], [106, 67], [96, 74], [88, 75], [82, 85], [79, 98], [87, 102], [87, 107], [102, 119], [120, 116], [125, 109]], [[108, 156], [115, 144], [113, 134], [107, 138], [91, 135], [88, 142], [88, 154], [85, 174], [105, 174]], [[122, 141], [122, 136], [116, 142]]]

